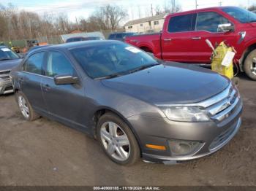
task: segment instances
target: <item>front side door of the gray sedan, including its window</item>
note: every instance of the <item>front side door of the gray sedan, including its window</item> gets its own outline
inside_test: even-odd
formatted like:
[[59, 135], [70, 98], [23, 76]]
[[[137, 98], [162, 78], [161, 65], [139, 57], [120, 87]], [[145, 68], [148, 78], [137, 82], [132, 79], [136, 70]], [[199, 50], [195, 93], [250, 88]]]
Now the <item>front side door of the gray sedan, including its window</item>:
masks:
[[84, 91], [82, 82], [76, 85], [56, 85], [54, 77], [59, 74], [77, 76], [72, 62], [64, 52], [50, 51], [45, 67], [42, 90], [48, 112], [59, 120], [75, 127], [85, 127]]

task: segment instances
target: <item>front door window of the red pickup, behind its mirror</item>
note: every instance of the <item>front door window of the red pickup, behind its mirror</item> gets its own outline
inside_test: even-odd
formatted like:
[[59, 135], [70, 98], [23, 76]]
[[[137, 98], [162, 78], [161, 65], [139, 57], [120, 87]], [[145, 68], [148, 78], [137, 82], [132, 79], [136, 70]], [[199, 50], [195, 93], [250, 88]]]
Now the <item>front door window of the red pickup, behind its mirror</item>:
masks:
[[217, 12], [199, 12], [197, 15], [196, 31], [218, 32], [218, 26], [230, 23], [227, 18]]

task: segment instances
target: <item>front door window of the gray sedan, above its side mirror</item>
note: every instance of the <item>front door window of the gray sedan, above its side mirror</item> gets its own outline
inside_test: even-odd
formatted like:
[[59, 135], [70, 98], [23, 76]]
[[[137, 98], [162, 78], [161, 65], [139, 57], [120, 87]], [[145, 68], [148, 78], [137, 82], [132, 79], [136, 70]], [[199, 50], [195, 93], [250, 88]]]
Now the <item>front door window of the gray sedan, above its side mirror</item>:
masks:
[[46, 76], [55, 77], [60, 74], [71, 74], [73, 75], [75, 70], [72, 64], [61, 52], [49, 52]]

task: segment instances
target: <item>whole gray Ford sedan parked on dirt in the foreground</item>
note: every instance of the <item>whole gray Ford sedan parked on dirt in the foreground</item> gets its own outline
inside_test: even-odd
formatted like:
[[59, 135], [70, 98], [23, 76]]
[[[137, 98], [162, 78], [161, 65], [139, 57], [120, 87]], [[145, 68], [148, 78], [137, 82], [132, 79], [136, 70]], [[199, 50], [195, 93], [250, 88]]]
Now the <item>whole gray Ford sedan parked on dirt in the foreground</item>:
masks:
[[241, 125], [241, 98], [229, 79], [123, 42], [43, 47], [11, 75], [26, 120], [43, 116], [82, 130], [122, 165], [210, 155]]

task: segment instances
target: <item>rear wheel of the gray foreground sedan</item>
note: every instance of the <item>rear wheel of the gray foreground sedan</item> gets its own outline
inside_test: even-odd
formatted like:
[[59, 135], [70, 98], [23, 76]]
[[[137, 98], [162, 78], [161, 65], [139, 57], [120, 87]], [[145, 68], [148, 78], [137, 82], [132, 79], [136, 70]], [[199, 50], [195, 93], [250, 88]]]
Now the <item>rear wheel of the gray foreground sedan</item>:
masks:
[[[20, 112], [25, 118], [25, 120], [34, 121], [40, 117], [39, 114], [37, 114], [37, 112], [34, 112], [34, 109], [29, 103], [28, 98], [26, 98], [26, 95], [18, 91], [15, 93], [15, 99], [17, 101]], [[23, 104], [21, 102], [23, 102]]]

